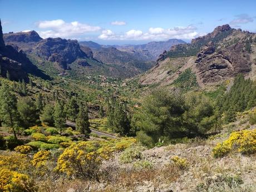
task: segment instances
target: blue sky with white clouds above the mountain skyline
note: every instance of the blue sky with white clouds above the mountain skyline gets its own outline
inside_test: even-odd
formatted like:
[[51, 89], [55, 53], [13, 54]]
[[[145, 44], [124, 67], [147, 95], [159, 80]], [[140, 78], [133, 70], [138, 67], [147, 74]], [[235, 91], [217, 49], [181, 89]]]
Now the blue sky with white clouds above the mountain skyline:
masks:
[[256, 32], [256, 1], [0, 0], [3, 32], [35, 30], [102, 44], [191, 38], [230, 24]]

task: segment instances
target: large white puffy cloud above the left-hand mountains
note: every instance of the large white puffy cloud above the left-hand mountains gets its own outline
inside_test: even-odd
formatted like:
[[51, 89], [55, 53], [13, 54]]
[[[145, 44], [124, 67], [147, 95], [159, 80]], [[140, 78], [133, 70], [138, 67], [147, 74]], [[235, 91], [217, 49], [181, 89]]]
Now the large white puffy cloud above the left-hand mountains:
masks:
[[40, 21], [37, 24], [38, 28], [48, 29], [46, 31], [38, 31], [42, 38], [47, 37], [62, 37], [73, 38], [77, 35], [83, 35], [88, 32], [99, 31], [101, 28], [98, 26], [90, 26], [88, 24], [73, 21], [67, 23], [62, 19], [56, 19], [51, 21]]

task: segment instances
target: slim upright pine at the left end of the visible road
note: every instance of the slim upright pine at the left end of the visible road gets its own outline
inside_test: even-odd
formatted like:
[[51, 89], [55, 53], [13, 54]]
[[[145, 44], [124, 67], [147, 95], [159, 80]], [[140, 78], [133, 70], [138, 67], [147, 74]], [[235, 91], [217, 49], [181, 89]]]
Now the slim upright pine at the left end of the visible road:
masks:
[[55, 126], [62, 132], [66, 125], [66, 114], [63, 111], [63, 104], [60, 101], [56, 101], [55, 103], [53, 119]]

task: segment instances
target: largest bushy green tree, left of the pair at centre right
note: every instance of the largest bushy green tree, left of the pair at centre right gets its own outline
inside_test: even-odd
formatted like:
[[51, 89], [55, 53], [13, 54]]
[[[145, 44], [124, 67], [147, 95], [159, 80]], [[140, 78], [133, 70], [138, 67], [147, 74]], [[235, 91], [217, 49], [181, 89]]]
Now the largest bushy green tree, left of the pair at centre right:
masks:
[[175, 137], [185, 131], [182, 126], [184, 112], [184, 98], [179, 93], [160, 88], [145, 97], [136, 115], [136, 127], [154, 142], [161, 136]]

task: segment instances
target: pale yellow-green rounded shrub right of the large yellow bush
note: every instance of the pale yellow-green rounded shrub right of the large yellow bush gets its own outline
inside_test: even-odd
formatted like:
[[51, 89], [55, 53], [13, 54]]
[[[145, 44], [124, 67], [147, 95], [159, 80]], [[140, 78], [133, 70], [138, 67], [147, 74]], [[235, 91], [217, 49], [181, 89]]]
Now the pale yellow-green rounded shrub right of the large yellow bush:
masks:
[[142, 151], [145, 150], [145, 147], [141, 145], [132, 145], [122, 152], [120, 155], [120, 161], [122, 163], [131, 163], [136, 159], [142, 159]]

